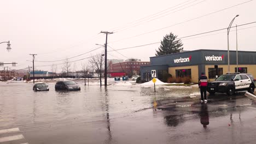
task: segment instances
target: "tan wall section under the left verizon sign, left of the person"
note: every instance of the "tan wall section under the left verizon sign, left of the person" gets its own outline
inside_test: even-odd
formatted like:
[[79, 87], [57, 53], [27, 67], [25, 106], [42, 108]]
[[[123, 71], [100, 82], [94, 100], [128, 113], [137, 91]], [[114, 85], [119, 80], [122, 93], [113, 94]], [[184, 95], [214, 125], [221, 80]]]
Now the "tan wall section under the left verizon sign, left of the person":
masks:
[[[214, 68], [214, 65], [213, 65]], [[191, 82], [198, 83], [198, 66], [187, 66], [187, 67], [171, 67], [168, 68], [168, 73], [172, 75], [174, 79], [176, 79], [176, 69], [191, 69]]]

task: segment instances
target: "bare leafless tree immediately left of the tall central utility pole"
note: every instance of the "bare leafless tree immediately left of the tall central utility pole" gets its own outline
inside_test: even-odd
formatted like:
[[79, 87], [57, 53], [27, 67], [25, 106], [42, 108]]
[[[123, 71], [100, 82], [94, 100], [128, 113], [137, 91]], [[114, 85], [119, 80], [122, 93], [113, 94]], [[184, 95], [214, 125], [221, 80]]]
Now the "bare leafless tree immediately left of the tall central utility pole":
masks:
[[91, 65], [93, 64], [95, 66], [96, 73], [100, 75], [100, 85], [102, 86], [101, 83], [101, 76], [102, 76], [102, 71], [103, 71], [103, 65], [104, 65], [104, 55], [98, 54], [95, 56], [92, 56], [89, 60]]

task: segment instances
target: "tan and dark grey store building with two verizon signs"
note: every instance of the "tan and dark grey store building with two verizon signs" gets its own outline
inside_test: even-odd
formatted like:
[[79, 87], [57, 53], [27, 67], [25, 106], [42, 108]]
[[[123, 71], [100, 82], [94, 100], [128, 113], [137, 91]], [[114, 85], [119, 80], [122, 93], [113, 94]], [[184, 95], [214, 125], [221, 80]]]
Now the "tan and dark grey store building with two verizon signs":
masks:
[[[230, 52], [230, 73], [237, 72], [236, 51]], [[228, 51], [195, 50], [171, 55], [150, 57], [150, 65], [141, 67], [141, 79], [152, 80], [151, 70], [156, 70], [156, 77], [164, 74], [177, 77], [190, 77], [191, 82], [198, 82], [201, 72], [205, 72], [210, 81], [216, 75], [228, 73]], [[256, 77], [256, 51], [238, 51], [238, 72], [249, 73]]]

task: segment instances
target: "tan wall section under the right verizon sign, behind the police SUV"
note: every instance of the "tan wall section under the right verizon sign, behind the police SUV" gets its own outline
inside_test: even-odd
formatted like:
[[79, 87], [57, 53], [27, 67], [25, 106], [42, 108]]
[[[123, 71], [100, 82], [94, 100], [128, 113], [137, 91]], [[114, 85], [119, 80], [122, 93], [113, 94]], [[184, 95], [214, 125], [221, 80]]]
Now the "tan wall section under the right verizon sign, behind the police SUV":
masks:
[[[214, 68], [214, 65], [205, 65], [205, 74], [208, 76], [208, 68]], [[228, 65], [218, 65], [218, 68], [223, 68], [223, 74], [228, 73]], [[230, 73], [235, 73], [236, 65], [230, 65]], [[252, 74], [254, 79], [256, 77], [256, 65], [238, 65], [238, 68], [247, 68], [247, 73]], [[215, 79], [209, 79], [214, 81]]]

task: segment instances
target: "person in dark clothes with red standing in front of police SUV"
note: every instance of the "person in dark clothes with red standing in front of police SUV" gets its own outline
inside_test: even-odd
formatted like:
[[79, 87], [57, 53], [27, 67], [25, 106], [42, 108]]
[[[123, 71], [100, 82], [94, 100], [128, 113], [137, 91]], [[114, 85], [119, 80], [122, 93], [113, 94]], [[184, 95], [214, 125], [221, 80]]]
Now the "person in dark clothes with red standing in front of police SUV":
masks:
[[198, 85], [201, 92], [201, 103], [203, 102], [207, 103], [206, 89], [207, 89], [208, 81], [207, 81], [207, 76], [205, 76], [205, 73], [203, 72], [201, 73], [201, 76], [199, 78]]

